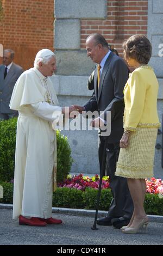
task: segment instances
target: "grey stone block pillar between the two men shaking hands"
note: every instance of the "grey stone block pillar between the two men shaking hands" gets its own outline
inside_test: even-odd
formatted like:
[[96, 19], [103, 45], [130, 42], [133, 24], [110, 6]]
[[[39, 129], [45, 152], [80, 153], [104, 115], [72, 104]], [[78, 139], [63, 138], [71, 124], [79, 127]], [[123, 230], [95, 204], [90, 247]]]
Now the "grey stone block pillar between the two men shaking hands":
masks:
[[[95, 63], [80, 50], [80, 19], [105, 19], [107, 0], [55, 0], [54, 48], [57, 76], [54, 84], [62, 106], [84, 105], [92, 95], [88, 76]], [[74, 163], [71, 172], [99, 173], [97, 131], [62, 131], [68, 136]]]

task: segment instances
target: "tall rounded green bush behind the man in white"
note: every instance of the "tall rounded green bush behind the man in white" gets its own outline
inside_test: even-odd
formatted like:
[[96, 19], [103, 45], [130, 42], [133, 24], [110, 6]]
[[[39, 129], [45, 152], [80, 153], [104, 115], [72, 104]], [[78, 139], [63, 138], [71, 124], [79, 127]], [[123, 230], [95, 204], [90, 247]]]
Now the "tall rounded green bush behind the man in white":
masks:
[[[0, 180], [14, 179], [17, 118], [0, 121]], [[57, 131], [57, 181], [66, 179], [72, 165], [67, 137]]]

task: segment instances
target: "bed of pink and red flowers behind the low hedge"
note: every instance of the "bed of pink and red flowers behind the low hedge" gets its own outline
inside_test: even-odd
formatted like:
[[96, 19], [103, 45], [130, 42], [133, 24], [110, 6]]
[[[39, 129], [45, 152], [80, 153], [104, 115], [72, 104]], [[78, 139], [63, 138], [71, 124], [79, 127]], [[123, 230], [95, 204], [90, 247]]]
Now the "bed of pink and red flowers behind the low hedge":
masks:
[[[151, 180], [146, 179], [147, 193], [158, 194], [163, 192], [163, 181], [161, 179], [152, 178]], [[92, 178], [89, 176], [83, 176], [83, 174], [68, 175], [64, 182], [60, 182], [58, 187], [70, 187], [77, 188], [77, 190], [85, 191], [86, 187], [92, 187], [96, 190], [99, 186], [99, 175], [95, 175]], [[109, 188], [109, 177], [104, 176], [102, 181], [102, 189]]]

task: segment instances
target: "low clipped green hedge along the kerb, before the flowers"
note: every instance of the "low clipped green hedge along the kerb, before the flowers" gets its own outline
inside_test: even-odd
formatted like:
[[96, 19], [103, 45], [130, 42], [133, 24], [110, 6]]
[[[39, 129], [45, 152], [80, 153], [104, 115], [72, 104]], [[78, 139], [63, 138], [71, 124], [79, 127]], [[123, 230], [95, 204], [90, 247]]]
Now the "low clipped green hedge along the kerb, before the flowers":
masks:
[[[3, 186], [3, 196], [0, 203], [11, 203], [13, 194], [13, 184], [1, 182]], [[94, 188], [86, 188], [83, 192], [76, 188], [59, 187], [53, 193], [53, 206], [74, 209], [96, 209], [97, 192]], [[110, 188], [101, 191], [99, 210], [107, 211], [112, 200]], [[146, 193], [145, 210], [147, 214], [163, 215], [163, 199], [158, 194]]]

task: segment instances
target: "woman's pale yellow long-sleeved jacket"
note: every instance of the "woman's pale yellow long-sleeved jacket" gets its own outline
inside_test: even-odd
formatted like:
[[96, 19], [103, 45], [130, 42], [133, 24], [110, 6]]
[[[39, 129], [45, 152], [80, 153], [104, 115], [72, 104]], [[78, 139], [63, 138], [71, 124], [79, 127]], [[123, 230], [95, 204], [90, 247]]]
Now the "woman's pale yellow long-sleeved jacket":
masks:
[[159, 84], [150, 66], [140, 66], [130, 74], [124, 87], [124, 129], [160, 127], [157, 112]]

